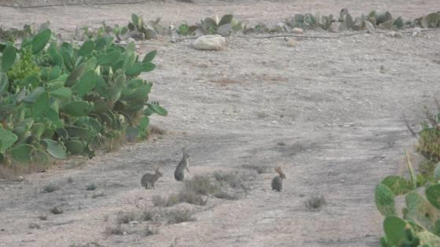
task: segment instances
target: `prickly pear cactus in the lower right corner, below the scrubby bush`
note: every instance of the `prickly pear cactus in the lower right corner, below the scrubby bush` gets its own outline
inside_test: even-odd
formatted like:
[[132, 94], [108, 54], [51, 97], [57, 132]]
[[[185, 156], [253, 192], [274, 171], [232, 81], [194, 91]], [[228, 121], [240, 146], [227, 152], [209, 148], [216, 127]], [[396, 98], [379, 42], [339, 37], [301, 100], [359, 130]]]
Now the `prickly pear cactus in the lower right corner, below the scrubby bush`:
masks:
[[[388, 176], [374, 191], [377, 210], [385, 217], [381, 247], [440, 246], [440, 180], [416, 183], [417, 176], [409, 158], [406, 153], [409, 179]], [[423, 197], [419, 192], [424, 186]], [[404, 196], [405, 201], [401, 214], [395, 207], [395, 197], [398, 196]]]

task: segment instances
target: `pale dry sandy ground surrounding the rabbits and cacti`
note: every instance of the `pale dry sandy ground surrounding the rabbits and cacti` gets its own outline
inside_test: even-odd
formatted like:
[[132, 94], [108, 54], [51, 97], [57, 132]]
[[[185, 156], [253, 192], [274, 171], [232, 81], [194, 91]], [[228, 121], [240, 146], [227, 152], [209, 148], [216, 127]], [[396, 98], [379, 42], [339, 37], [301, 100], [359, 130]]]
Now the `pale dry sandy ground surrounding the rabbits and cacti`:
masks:
[[[165, 22], [231, 12], [249, 22], [276, 23], [298, 11], [337, 13], [342, 7], [355, 13], [376, 8], [417, 17], [439, 10], [440, 2], [167, 1], [0, 7], [0, 24], [20, 26], [48, 19], [55, 29], [71, 32], [76, 25], [101, 20], [123, 24], [131, 12]], [[151, 100], [169, 111], [168, 117], [151, 122], [167, 134], [80, 166], [66, 162], [21, 182], [0, 180], [0, 246], [378, 246], [382, 218], [375, 209], [373, 189], [384, 176], [403, 171], [402, 151], [414, 144], [402, 113], [418, 127], [423, 105], [432, 107], [440, 92], [440, 32], [402, 38], [376, 33], [305, 39], [293, 47], [282, 38], [229, 37], [227, 48], [218, 52], [194, 50], [189, 41], [149, 43], [139, 52], [157, 49], [158, 67], [144, 77], [156, 82]], [[117, 211], [152, 207], [153, 195], [178, 190], [172, 171], [182, 147], [191, 155], [189, 176], [241, 165], [280, 165], [287, 176], [284, 191], [271, 192], [274, 174], [262, 174], [239, 200], [183, 205], [197, 212], [194, 222], [163, 225], [149, 237], [106, 234]], [[160, 160], [166, 161], [164, 177], [155, 190], [142, 189], [141, 174]], [[59, 190], [41, 193], [49, 183]], [[89, 183], [95, 183], [97, 191], [85, 191]], [[91, 198], [98, 192], [105, 196]], [[309, 212], [304, 202], [316, 194], [324, 195], [327, 205]], [[49, 214], [55, 205], [64, 213]], [[37, 218], [42, 214], [48, 214], [46, 221]], [[41, 228], [29, 229], [29, 223]]]

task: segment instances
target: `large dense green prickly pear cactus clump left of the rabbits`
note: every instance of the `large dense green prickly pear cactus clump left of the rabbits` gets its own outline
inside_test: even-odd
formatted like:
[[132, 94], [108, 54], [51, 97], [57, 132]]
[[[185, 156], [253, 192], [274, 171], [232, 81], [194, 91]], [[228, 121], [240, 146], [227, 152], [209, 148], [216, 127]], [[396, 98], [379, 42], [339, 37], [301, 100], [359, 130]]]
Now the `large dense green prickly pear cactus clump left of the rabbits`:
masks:
[[58, 42], [50, 29], [0, 46], [0, 162], [47, 165], [67, 155], [93, 157], [103, 143], [146, 137], [156, 51], [139, 59], [102, 35], [81, 45]]

